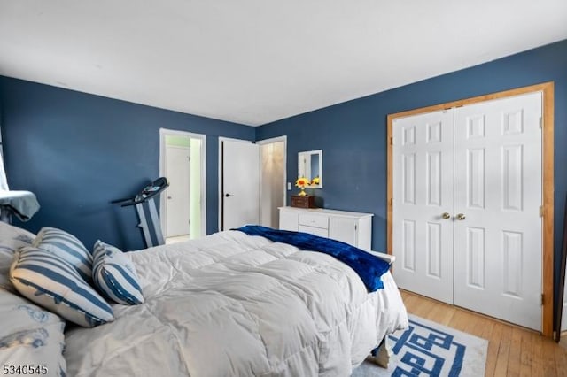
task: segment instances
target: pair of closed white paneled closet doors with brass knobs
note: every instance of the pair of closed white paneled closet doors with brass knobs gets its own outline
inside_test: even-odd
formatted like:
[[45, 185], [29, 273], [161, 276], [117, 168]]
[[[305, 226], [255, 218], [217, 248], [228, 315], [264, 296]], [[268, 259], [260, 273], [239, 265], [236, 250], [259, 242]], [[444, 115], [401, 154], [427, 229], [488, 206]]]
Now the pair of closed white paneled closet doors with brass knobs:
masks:
[[541, 329], [541, 108], [532, 93], [394, 120], [400, 288]]

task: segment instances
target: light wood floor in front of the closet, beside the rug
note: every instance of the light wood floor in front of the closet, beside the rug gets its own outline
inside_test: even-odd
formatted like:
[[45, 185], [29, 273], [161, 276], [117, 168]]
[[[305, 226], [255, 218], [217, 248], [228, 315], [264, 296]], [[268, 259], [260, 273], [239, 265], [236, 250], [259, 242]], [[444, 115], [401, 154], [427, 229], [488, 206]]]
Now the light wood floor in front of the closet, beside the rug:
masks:
[[567, 376], [567, 339], [560, 344], [510, 325], [402, 290], [408, 312], [488, 340], [486, 376]]

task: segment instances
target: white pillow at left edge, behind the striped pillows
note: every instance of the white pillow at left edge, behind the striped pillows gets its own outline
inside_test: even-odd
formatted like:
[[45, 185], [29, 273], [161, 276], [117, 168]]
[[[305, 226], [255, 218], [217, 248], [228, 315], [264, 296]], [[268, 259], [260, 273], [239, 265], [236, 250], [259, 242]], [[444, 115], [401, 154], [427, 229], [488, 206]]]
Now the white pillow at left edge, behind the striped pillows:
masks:
[[21, 246], [30, 246], [34, 238], [33, 233], [0, 221], [0, 288], [16, 292], [8, 278], [14, 252]]

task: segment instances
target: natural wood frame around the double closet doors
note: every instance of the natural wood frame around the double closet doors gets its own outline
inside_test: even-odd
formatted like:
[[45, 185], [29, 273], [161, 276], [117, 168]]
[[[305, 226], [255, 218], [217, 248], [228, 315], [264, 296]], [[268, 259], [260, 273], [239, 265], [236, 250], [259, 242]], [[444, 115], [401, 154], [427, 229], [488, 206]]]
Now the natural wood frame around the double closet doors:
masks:
[[435, 112], [447, 110], [453, 107], [461, 107], [467, 104], [501, 99], [509, 96], [519, 96], [526, 93], [541, 92], [543, 95], [542, 108], [542, 194], [543, 211], [542, 217], [542, 324], [541, 333], [544, 336], [553, 336], [553, 304], [554, 304], [554, 81], [543, 82], [523, 88], [504, 90], [484, 96], [465, 98], [445, 104], [412, 109], [405, 112], [396, 112], [387, 116], [387, 252], [392, 254], [392, 230], [393, 230], [393, 120], [424, 112]]

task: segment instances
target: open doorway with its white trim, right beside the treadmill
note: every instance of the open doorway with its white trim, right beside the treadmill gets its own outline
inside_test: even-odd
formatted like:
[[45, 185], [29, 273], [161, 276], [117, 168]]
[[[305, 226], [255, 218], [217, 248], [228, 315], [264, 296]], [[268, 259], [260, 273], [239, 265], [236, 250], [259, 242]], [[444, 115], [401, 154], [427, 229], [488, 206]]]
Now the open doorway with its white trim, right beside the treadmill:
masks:
[[166, 243], [206, 235], [206, 135], [160, 128], [159, 175], [169, 181], [159, 208]]

